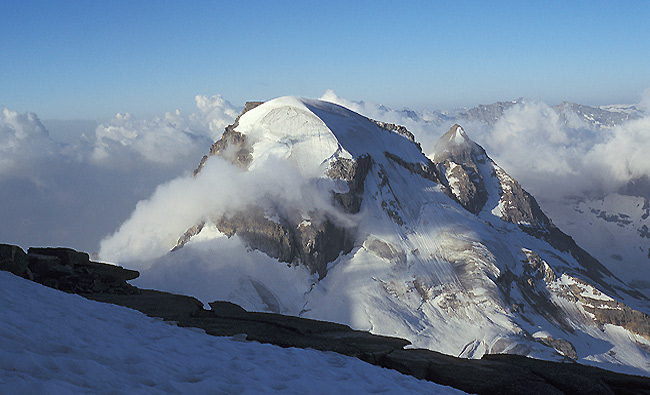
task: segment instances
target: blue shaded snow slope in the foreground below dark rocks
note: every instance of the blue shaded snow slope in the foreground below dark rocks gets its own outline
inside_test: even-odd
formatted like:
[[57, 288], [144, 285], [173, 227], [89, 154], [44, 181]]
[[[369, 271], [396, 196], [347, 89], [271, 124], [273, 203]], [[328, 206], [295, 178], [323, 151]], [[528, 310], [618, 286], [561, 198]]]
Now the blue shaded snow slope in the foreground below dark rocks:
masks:
[[0, 393], [461, 391], [314, 350], [179, 328], [0, 272]]

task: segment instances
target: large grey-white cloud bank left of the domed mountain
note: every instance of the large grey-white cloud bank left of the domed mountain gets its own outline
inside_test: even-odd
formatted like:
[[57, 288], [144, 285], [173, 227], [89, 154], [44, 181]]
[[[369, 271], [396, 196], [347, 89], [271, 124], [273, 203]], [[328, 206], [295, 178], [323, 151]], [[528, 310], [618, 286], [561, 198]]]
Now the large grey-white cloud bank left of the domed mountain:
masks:
[[240, 111], [219, 95], [195, 100], [190, 114], [118, 114], [65, 142], [36, 114], [1, 108], [0, 242], [97, 251], [138, 201], [196, 168]]

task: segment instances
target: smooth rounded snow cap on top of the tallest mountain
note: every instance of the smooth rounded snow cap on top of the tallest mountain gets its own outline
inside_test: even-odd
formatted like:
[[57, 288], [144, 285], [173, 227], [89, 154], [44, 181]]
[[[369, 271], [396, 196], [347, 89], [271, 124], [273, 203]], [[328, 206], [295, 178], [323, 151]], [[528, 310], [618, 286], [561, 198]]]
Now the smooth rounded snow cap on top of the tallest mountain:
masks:
[[421, 160], [418, 147], [405, 136], [319, 100], [281, 97], [268, 101], [243, 114], [235, 129], [251, 141], [257, 165], [280, 157], [302, 170], [318, 169], [333, 158], [378, 157], [384, 152]]

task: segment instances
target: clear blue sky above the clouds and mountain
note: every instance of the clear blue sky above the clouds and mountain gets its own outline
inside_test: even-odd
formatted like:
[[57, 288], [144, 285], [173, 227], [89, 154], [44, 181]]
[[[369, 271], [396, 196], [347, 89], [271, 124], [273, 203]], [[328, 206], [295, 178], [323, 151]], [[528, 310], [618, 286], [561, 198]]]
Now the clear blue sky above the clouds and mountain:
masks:
[[650, 88], [648, 20], [647, 1], [9, 1], [0, 106], [106, 119], [326, 89], [417, 109], [630, 103]]

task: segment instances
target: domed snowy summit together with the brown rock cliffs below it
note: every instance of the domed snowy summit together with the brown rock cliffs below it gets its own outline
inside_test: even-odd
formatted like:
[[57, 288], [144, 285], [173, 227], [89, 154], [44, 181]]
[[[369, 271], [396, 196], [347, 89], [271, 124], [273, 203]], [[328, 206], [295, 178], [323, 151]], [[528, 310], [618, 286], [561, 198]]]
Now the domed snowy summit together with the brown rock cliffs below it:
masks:
[[[329, 263], [353, 248], [357, 226], [349, 216], [361, 209], [371, 167], [379, 172], [375, 177], [383, 180], [381, 189], [390, 194], [382, 200], [382, 208], [397, 222], [402, 219], [393, 208], [396, 197], [386, 169], [398, 166], [436, 179], [430, 160], [405, 128], [373, 121], [333, 103], [296, 97], [251, 105], [226, 127], [210, 155], [252, 174], [287, 173], [293, 185], [285, 186], [282, 193], [268, 193], [264, 202], [252, 206], [206, 213], [180, 237], [175, 249], [211, 223], [219, 232], [237, 235], [272, 258], [308, 267], [319, 278], [326, 275]], [[208, 156], [203, 158], [195, 175], [207, 160]], [[282, 197], [287, 194], [311, 204]]]

